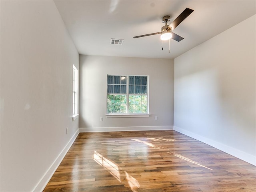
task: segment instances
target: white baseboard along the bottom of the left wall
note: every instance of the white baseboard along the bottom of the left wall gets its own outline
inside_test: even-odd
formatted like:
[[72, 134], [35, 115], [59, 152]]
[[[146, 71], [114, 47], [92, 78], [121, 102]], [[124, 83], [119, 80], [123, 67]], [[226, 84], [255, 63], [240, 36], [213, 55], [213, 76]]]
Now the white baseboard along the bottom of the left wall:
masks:
[[40, 181], [36, 184], [32, 192], [41, 192], [44, 190], [50, 179], [52, 178], [52, 175], [57, 170], [58, 166], [62, 162], [63, 158], [67, 154], [68, 150], [76, 140], [76, 137], [79, 134], [79, 129], [76, 130], [75, 134], [72, 136], [72, 138], [69, 140], [68, 144], [64, 147], [62, 152], [58, 155], [58, 157], [54, 160], [54, 162], [51, 164], [51, 166], [48, 168], [48, 170], [45, 172], [45, 174], [42, 176]]

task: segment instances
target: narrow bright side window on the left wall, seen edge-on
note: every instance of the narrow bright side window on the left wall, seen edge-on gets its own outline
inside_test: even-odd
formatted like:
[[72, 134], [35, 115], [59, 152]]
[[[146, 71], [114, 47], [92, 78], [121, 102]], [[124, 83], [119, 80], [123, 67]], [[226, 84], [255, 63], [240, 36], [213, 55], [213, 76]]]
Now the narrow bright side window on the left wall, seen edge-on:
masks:
[[73, 65], [73, 121], [78, 117], [78, 70]]

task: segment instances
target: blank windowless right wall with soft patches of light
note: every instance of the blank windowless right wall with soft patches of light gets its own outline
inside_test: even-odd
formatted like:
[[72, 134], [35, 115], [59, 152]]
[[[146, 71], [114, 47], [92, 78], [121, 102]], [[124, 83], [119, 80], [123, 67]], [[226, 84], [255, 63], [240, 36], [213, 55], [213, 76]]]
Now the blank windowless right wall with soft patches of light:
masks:
[[256, 16], [174, 63], [174, 129], [256, 165]]

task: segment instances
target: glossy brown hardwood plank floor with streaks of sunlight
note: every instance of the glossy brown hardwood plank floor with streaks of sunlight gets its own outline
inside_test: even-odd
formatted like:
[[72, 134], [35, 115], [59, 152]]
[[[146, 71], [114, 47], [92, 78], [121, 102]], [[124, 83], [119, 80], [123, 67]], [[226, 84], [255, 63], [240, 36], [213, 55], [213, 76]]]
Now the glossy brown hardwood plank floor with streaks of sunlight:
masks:
[[173, 130], [80, 133], [52, 191], [256, 192], [256, 166]]

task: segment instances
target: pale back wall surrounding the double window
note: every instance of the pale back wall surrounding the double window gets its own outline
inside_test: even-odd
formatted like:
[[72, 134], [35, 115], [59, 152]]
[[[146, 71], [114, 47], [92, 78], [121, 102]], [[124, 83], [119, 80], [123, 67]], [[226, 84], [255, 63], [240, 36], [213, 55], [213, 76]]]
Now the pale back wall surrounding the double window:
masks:
[[[149, 75], [150, 117], [106, 118], [107, 74]], [[82, 131], [170, 129], [173, 91], [174, 60], [80, 55], [79, 127], [90, 128]]]

